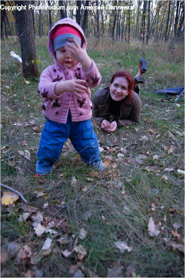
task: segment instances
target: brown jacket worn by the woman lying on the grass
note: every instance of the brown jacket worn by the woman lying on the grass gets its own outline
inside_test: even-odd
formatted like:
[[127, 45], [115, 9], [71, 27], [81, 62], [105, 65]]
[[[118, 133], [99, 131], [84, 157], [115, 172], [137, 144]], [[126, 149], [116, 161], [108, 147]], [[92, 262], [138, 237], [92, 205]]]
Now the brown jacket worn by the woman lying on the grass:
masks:
[[[93, 116], [98, 118], [100, 121], [106, 119], [110, 121], [111, 115], [109, 113], [109, 87], [102, 88], [98, 90], [92, 98], [92, 103], [94, 104]], [[120, 111], [118, 113], [118, 118], [112, 118], [111, 121], [117, 120], [120, 126], [127, 126], [135, 124], [140, 121], [141, 116], [141, 99], [139, 95], [132, 91], [132, 99], [129, 104], [126, 103], [126, 98], [120, 104]]]

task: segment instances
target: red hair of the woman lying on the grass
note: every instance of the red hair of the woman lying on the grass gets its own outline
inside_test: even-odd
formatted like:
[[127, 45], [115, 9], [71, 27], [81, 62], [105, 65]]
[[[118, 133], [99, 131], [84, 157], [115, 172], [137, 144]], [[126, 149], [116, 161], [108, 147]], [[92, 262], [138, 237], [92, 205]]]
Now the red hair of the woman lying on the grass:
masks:
[[117, 71], [111, 77], [111, 80], [110, 80], [111, 84], [114, 82], [114, 79], [116, 77], [124, 77], [128, 81], [128, 95], [127, 95], [128, 101], [126, 102], [126, 104], [128, 104], [128, 103], [130, 103], [130, 101], [132, 99], [132, 90], [134, 90], [134, 80], [132, 78], [132, 75], [126, 70]]

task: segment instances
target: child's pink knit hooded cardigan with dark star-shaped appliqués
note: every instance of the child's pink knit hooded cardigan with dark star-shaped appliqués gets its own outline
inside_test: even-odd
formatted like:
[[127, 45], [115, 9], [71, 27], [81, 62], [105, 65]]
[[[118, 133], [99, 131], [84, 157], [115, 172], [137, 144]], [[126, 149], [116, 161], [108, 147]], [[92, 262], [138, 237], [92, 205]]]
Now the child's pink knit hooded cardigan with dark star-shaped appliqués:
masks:
[[[54, 65], [48, 66], [42, 72], [39, 82], [39, 93], [44, 100], [44, 104], [42, 105], [43, 115], [52, 121], [65, 124], [70, 109], [73, 122], [88, 120], [92, 116], [89, 87], [95, 88], [98, 86], [101, 82], [101, 75], [93, 60], [92, 67], [87, 72], [82, 69], [79, 62], [68, 69], [57, 61], [51, 38], [53, 30], [58, 24], [70, 24], [76, 27], [82, 34], [82, 43], [86, 43], [81, 27], [72, 19], [61, 19], [51, 28], [48, 35], [48, 49], [53, 57]], [[81, 98], [70, 92], [64, 92], [58, 96], [55, 95], [54, 87], [57, 82], [64, 82], [75, 77], [86, 80], [85, 86], [87, 87], [87, 91], [81, 94]]]

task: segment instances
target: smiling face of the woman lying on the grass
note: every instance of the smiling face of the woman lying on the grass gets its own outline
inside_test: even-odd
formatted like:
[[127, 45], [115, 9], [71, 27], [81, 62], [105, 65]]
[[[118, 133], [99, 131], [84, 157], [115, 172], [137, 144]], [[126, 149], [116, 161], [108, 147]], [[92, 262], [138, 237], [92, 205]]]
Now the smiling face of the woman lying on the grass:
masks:
[[109, 83], [110, 95], [114, 101], [124, 99], [128, 95], [128, 81], [124, 77], [116, 77]]

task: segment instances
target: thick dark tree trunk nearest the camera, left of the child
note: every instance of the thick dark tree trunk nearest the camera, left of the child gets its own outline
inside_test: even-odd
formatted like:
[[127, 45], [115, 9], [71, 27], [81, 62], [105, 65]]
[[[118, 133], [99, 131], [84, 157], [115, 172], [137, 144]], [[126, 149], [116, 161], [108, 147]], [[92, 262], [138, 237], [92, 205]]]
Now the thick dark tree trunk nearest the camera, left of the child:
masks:
[[24, 78], [40, 76], [37, 70], [33, 18], [32, 10], [28, 9], [29, 4], [31, 4], [31, 1], [15, 1], [15, 5], [25, 5], [27, 8], [26, 10], [22, 9], [21, 11], [15, 10], [15, 19], [19, 32]]

